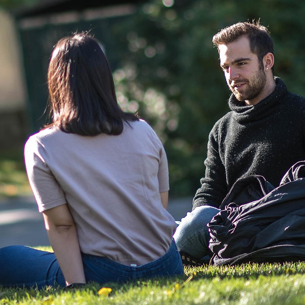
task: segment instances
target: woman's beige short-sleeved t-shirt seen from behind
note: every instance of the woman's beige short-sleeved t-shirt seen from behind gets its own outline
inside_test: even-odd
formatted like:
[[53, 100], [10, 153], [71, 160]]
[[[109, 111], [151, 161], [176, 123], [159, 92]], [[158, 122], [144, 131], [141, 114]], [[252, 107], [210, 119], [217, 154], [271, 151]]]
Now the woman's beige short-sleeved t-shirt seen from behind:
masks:
[[139, 266], [166, 253], [176, 224], [160, 200], [163, 145], [145, 121], [130, 124], [116, 136], [48, 128], [27, 140], [24, 157], [39, 211], [67, 203], [83, 253]]

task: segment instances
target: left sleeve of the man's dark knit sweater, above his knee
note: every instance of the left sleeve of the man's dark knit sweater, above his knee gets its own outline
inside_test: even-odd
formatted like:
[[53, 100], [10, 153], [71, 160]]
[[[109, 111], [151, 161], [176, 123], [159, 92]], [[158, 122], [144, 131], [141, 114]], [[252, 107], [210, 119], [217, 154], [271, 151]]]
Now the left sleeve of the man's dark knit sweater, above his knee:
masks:
[[201, 187], [193, 199], [193, 210], [197, 206], [219, 207], [228, 192], [225, 167], [221, 160], [218, 142], [219, 121], [209, 135], [205, 177], [200, 179]]

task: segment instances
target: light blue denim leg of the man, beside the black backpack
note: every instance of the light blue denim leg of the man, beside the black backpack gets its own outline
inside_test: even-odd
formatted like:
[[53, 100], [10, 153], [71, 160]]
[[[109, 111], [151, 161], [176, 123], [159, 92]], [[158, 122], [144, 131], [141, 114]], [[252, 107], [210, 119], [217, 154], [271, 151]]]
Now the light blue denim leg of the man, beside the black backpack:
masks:
[[198, 206], [181, 219], [175, 234], [178, 251], [197, 259], [209, 259], [209, 230], [206, 226], [220, 210], [213, 206]]

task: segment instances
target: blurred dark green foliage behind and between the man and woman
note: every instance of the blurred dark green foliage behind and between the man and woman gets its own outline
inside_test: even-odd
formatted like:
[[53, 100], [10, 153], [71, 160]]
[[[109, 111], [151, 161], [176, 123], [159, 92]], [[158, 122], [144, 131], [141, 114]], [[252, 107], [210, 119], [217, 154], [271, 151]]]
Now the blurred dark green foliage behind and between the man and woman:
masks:
[[228, 111], [230, 95], [212, 37], [238, 21], [260, 19], [275, 45], [274, 74], [305, 95], [305, 2], [155, 0], [116, 25], [126, 42], [114, 71], [118, 99], [155, 129], [167, 151], [170, 194], [194, 195], [204, 175], [210, 129]]

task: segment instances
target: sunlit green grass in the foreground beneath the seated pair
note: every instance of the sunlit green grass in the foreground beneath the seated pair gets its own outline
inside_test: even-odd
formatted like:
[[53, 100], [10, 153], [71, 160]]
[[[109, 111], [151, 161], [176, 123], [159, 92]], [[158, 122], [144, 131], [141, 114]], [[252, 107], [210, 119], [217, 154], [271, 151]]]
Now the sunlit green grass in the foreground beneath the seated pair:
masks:
[[304, 272], [304, 262], [185, 267], [180, 277], [108, 283], [107, 297], [97, 283], [70, 291], [0, 288], [0, 304], [305, 304]]

